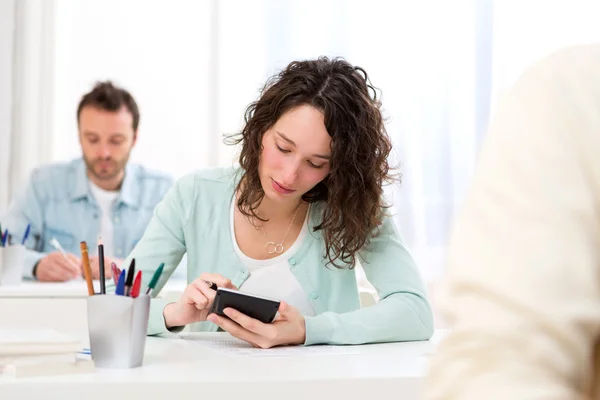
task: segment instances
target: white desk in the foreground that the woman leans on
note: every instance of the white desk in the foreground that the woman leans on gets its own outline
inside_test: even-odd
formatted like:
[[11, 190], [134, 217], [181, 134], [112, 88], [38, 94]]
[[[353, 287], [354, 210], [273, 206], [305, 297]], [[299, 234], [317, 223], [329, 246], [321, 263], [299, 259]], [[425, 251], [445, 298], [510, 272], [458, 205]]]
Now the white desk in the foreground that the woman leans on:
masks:
[[149, 337], [141, 368], [16, 380], [0, 384], [0, 398], [419, 399], [427, 355], [444, 334], [359, 346], [360, 354], [294, 357], [230, 356], [198, 343], [226, 333]]

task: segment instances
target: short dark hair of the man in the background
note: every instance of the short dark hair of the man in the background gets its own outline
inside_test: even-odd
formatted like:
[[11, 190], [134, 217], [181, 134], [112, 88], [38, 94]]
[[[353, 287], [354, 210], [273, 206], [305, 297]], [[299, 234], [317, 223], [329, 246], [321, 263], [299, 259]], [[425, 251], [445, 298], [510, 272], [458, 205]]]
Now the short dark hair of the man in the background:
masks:
[[137, 131], [137, 127], [140, 123], [140, 111], [137, 103], [127, 90], [113, 85], [111, 81], [96, 83], [92, 91], [81, 98], [79, 106], [77, 107], [78, 123], [81, 110], [87, 106], [114, 112], [119, 111], [125, 106], [133, 117], [133, 130]]

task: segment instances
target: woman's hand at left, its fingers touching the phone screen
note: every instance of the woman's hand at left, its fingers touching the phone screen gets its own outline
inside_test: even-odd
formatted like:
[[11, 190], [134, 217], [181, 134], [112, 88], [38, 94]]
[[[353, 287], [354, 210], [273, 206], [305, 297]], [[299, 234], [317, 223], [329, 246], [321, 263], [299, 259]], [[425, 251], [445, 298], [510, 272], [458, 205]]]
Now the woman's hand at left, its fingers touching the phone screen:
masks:
[[163, 316], [167, 328], [206, 320], [216, 294], [216, 291], [210, 288], [210, 283], [206, 283], [207, 281], [214, 282], [218, 287], [237, 290], [224, 276], [203, 273], [185, 288], [178, 301], [167, 304], [164, 308]]

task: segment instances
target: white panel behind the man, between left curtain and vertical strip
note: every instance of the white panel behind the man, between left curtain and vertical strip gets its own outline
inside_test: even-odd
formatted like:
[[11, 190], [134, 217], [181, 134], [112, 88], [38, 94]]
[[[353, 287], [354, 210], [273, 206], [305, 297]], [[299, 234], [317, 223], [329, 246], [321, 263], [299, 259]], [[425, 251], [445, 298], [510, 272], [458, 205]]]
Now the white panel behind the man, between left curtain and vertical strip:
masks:
[[211, 164], [210, 17], [209, 1], [58, 1], [54, 159], [80, 156], [77, 104], [111, 79], [140, 107], [133, 161], [175, 175]]

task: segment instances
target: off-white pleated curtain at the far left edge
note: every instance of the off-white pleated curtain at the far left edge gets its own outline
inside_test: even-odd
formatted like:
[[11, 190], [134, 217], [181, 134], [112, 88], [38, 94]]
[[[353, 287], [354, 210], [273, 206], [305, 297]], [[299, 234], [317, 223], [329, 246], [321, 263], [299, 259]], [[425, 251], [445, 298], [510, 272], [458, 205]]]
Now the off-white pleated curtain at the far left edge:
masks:
[[53, 158], [53, 0], [0, 1], [0, 212]]

